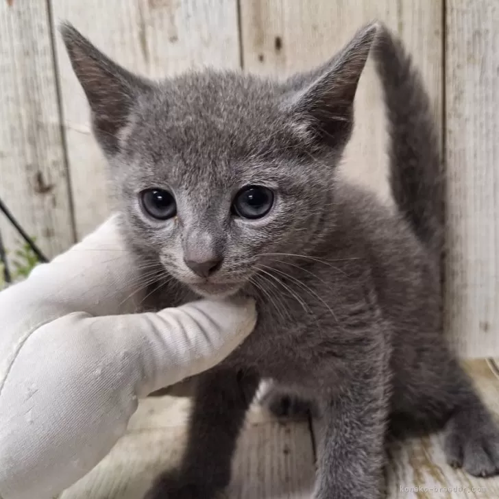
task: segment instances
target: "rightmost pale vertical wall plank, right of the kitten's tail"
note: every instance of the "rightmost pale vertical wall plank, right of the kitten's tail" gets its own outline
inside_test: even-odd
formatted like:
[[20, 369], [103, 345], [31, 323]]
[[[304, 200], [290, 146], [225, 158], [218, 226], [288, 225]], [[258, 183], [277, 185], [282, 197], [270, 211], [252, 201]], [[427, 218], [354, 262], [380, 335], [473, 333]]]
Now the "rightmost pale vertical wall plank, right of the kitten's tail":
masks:
[[448, 329], [499, 355], [499, 3], [450, 0], [446, 40]]

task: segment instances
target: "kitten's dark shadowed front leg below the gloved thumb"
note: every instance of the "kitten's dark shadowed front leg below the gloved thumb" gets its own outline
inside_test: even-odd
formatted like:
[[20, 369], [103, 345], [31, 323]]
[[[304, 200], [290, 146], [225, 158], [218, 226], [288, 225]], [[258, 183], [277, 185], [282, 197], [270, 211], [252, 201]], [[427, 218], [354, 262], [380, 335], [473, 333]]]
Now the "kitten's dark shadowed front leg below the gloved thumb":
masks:
[[212, 499], [230, 482], [232, 455], [259, 377], [217, 369], [200, 377], [180, 470], [160, 476], [146, 499]]

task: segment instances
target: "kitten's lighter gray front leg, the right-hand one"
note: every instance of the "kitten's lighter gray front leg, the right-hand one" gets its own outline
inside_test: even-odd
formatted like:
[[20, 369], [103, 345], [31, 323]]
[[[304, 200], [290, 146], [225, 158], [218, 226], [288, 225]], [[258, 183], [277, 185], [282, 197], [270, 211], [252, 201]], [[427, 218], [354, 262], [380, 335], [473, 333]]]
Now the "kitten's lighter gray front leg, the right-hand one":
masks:
[[321, 403], [314, 499], [379, 499], [385, 462], [389, 391], [386, 367], [352, 369]]

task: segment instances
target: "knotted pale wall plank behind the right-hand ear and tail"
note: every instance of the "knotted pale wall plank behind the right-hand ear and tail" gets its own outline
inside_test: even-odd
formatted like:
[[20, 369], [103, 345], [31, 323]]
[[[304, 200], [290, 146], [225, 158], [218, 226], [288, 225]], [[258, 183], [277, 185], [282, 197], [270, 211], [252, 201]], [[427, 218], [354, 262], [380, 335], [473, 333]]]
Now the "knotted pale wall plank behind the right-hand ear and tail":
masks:
[[[313, 5], [313, 6], [312, 6]], [[398, 32], [414, 53], [441, 123], [441, 0], [252, 0], [241, 2], [243, 64], [247, 71], [289, 75], [325, 62], [364, 23], [378, 19]], [[387, 183], [385, 111], [368, 63], [355, 103], [356, 125], [341, 167], [350, 180], [391, 202]]]

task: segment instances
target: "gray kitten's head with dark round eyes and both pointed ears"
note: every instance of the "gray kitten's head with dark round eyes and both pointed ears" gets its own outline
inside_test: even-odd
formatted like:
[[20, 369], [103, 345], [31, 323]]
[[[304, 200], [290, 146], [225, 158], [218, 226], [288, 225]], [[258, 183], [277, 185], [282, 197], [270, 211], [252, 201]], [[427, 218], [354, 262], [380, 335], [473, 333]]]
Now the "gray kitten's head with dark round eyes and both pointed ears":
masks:
[[365, 27], [284, 82], [216, 71], [151, 82], [64, 25], [133, 247], [211, 297], [313, 247], [332, 223], [335, 167], [375, 34]]

